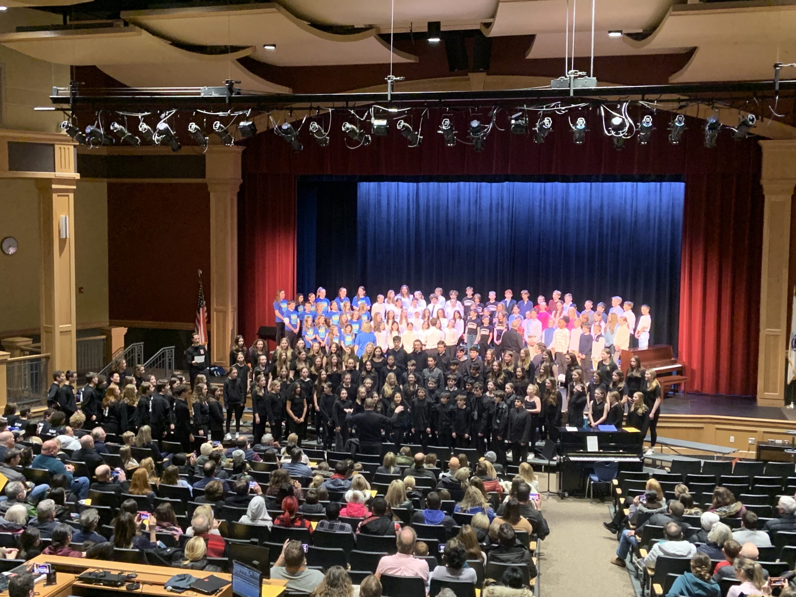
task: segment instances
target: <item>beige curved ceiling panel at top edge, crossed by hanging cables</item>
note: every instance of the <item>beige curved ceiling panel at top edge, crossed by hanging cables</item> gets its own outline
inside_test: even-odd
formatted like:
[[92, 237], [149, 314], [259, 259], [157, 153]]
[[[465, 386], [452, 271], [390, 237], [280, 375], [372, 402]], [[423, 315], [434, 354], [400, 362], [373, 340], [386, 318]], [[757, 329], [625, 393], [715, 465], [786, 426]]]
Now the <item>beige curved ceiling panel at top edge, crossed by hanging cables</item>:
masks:
[[[596, 0], [595, 30], [642, 31], [656, 26], [669, 7], [685, 0]], [[566, 30], [567, 0], [500, 0], [492, 25], [484, 26], [490, 36], [561, 33]], [[576, 31], [591, 31], [591, 2], [579, 2]], [[572, 30], [572, 16], [569, 20]], [[563, 42], [562, 42], [563, 47]]]

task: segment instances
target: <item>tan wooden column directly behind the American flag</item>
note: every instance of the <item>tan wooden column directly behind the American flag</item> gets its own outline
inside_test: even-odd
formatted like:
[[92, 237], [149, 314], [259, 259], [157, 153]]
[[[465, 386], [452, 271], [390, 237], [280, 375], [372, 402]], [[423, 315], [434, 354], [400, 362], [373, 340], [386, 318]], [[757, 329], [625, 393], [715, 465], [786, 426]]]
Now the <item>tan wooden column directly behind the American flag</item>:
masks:
[[205, 176], [210, 191], [209, 349], [214, 365], [229, 366], [238, 328], [238, 146], [209, 146]]

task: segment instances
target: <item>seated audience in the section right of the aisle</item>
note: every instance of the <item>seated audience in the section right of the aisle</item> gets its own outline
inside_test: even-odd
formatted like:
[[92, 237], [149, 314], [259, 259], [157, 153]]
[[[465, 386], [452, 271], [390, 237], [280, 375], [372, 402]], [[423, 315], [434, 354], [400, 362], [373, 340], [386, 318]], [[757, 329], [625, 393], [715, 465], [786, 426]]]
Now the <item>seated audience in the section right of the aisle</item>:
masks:
[[[757, 563], [759, 548], [771, 548], [776, 533], [796, 532], [796, 496], [779, 497], [775, 514], [761, 525], [757, 514], [722, 486], [713, 490], [712, 501], [704, 511], [695, 506], [684, 484], [675, 487], [674, 497], [667, 503], [660, 482], [653, 477], [646, 482], [644, 494], [630, 502], [628, 514], [617, 509], [613, 520], [603, 522], [603, 526], [618, 534], [611, 564], [620, 568], [626, 567], [630, 551], [639, 547], [646, 525], [664, 528], [663, 540], [635, 562], [638, 568], [654, 570], [660, 556], [691, 559], [690, 572], [678, 577], [665, 597], [720, 597], [721, 579], [739, 581], [729, 588], [728, 597], [771, 595], [772, 591], [780, 597], [796, 597], [796, 572], [778, 577], [780, 586], [770, 583], [767, 570]], [[693, 528], [685, 516], [700, 517], [700, 526]], [[728, 519], [739, 519], [740, 526], [732, 529], [723, 522]]]

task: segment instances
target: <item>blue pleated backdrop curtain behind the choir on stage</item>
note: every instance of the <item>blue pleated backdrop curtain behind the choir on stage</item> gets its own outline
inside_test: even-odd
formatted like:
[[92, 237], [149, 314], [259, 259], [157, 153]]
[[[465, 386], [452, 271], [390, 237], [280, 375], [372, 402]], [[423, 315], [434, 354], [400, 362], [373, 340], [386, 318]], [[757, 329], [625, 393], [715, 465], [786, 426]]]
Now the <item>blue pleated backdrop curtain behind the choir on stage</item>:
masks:
[[684, 193], [671, 181], [362, 181], [348, 285], [372, 299], [404, 283], [426, 296], [471, 285], [485, 301], [505, 288], [560, 289], [579, 306], [620, 295], [637, 317], [649, 304], [651, 341], [676, 348]]

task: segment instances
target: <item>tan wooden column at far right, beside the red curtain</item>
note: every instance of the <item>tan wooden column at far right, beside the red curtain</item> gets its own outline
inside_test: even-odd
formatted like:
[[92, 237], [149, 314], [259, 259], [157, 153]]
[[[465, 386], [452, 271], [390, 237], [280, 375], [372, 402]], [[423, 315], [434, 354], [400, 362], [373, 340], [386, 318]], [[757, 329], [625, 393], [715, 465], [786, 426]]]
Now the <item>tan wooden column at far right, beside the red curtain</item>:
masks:
[[761, 141], [765, 193], [760, 283], [760, 343], [757, 404], [782, 406], [787, 354], [790, 201], [796, 185], [796, 140]]

